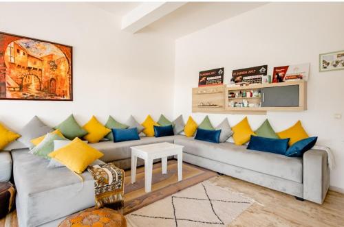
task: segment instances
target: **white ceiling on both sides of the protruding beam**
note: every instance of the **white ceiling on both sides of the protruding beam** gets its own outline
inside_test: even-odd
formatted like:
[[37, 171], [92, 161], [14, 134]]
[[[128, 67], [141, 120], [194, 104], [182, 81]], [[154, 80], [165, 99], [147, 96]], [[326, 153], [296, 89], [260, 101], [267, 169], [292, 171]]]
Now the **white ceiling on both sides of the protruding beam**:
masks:
[[[230, 19], [249, 10], [264, 5], [264, 2], [189, 2], [177, 10], [163, 16], [144, 27], [139, 33], [155, 32], [170, 38], [180, 38]], [[92, 5], [111, 12], [116, 16], [125, 16], [140, 5], [140, 2], [100, 2]]]

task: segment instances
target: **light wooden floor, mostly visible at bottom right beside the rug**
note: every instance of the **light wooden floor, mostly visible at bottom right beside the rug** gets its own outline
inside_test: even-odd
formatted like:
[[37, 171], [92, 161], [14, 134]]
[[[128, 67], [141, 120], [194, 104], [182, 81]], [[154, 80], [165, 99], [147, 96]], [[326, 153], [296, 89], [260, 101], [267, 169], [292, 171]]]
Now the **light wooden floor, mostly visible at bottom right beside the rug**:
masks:
[[[211, 178], [211, 182], [256, 201], [230, 226], [344, 226], [344, 194], [342, 193], [329, 191], [325, 202], [319, 205], [308, 201], [301, 202], [291, 195], [228, 176], [216, 176]], [[11, 216], [12, 222], [7, 226], [17, 227], [17, 223], [13, 222], [17, 221], [17, 214], [13, 212]], [[0, 219], [0, 227], [3, 226], [5, 219]]]

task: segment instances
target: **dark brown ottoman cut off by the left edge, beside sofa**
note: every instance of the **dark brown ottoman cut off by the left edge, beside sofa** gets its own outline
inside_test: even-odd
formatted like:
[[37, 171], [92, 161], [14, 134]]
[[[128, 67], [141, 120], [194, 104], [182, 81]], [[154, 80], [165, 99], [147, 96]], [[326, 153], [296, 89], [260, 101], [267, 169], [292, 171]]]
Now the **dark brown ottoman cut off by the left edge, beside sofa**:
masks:
[[0, 182], [0, 219], [12, 210], [16, 191], [10, 182]]

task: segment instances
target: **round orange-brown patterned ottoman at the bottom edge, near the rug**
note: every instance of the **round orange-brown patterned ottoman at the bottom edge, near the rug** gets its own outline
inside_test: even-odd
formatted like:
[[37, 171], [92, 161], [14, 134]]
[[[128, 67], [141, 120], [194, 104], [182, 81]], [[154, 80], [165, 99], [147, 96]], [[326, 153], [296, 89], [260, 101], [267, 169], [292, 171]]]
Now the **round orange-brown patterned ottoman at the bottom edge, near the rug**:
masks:
[[123, 215], [109, 208], [88, 208], [67, 217], [59, 227], [127, 227]]

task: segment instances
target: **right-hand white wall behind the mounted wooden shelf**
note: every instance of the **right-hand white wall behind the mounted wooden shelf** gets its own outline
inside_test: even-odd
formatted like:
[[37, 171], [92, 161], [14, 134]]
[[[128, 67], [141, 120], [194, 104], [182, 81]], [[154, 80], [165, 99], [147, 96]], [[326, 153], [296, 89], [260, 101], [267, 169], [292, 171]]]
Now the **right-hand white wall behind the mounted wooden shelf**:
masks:
[[[344, 3], [270, 3], [176, 40], [174, 115], [191, 115], [191, 88], [198, 72], [224, 67], [228, 84], [233, 69], [310, 62], [308, 110], [250, 115], [256, 129], [266, 119], [278, 132], [301, 120], [336, 156], [331, 186], [344, 190], [344, 71], [319, 73], [319, 53], [344, 49]], [[200, 123], [205, 114], [193, 114]], [[228, 117], [234, 126], [243, 115], [210, 115], [214, 125]], [[344, 116], [343, 116], [344, 117]]]

